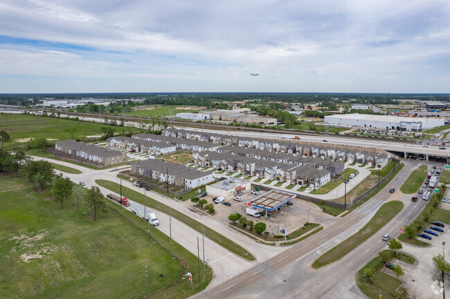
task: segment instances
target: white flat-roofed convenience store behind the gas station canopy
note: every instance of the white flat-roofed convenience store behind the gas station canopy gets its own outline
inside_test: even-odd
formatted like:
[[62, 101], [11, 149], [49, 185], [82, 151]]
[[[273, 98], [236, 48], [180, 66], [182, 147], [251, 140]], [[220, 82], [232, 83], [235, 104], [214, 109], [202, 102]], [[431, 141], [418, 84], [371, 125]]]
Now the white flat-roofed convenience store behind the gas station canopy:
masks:
[[250, 190], [251, 182], [237, 177], [230, 177], [206, 186], [206, 193], [208, 195], [224, 197], [225, 199], [249, 193]]

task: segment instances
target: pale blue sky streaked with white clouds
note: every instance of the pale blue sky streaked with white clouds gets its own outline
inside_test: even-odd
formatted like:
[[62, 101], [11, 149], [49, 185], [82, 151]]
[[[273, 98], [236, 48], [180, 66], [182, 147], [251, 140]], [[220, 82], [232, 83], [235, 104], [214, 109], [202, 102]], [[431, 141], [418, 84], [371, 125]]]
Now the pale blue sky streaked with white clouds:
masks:
[[0, 1], [0, 93], [120, 92], [449, 93], [450, 1]]

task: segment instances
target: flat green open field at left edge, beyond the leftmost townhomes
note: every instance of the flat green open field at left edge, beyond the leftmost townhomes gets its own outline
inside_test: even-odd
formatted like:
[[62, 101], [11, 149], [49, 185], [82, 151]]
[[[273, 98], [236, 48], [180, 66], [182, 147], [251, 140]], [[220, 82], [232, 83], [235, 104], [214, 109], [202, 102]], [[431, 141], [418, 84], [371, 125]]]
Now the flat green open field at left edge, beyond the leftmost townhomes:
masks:
[[56, 117], [15, 115], [9, 113], [1, 114], [0, 117], [0, 128], [8, 132], [11, 137], [11, 142], [4, 144], [5, 148], [24, 146], [26, 140], [29, 138], [46, 138], [53, 141], [72, 139], [71, 134], [64, 132], [66, 128], [77, 128], [78, 131], [75, 133], [75, 138], [101, 135], [102, 127], [111, 127], [115, 132], [122, 132], [123, 130], [127, 132], [129, 129], [137, 132], [135, 128], [94, 124], [84, 121], [77, 122], [76, 120]]

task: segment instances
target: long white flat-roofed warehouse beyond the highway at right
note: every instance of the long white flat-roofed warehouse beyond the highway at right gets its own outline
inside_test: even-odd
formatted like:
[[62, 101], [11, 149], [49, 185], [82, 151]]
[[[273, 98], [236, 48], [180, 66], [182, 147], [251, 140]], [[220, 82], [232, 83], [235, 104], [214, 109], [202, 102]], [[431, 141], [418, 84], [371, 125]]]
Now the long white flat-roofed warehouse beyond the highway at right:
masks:
[[444, 119], [397, 117], [388, 115], [364, 115], [358, 113], [325, 116], [327, 126], [358, 126], [385, 130], [422, 131], [427, 128], [444, 126]]

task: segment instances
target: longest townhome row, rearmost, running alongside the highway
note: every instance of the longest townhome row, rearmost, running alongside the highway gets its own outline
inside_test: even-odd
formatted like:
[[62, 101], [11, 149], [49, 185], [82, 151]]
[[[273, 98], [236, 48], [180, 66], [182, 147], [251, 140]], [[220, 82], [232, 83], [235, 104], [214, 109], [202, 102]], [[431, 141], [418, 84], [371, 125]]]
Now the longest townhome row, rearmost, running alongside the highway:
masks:
[[321, 146], [315, 144], [303, 144], [300, 142], [287, 142], [273, 139], [262, 139], [252, 137], [238, 137], [213, 133], [201, 133], [196, 131], [165, 129], [163, 135], [166, 137], [177, 137], [200, 142], [211, 142], [222, 146], [239, 146], [240, 148], [252, 148], [253, 150], [270, 151], [273, 153], [287, 153], [301, 156], [330, 158], [331, 160], [357, 162], [369, 166], [386, 166], [389, 162], [388, 155], [357, 149], [338, 148], [332, 146]]

